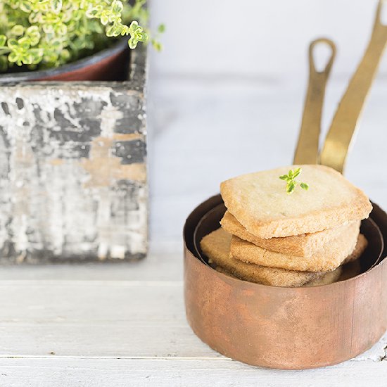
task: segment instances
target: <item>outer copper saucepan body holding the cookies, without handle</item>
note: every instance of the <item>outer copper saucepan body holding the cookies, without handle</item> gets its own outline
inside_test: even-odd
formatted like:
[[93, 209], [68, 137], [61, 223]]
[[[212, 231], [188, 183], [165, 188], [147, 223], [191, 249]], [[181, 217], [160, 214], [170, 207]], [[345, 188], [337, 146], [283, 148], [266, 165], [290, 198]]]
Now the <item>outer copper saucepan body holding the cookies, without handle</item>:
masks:
[[[199, 205], [184, 227], [184, 300], [196, 335], [248, 364], [306, 369], [336, 364], [370, 348], [387, 329], [387, 260], [325, 286], [281, 288], [231, 278], [194, 255], [194, 231], [220, 196]], [[387, 239], [387, 215], [372, 219]], [[214, 225], [217, 227], [217, 224]], [[386, 247], [382, 258], [386, 257]]]

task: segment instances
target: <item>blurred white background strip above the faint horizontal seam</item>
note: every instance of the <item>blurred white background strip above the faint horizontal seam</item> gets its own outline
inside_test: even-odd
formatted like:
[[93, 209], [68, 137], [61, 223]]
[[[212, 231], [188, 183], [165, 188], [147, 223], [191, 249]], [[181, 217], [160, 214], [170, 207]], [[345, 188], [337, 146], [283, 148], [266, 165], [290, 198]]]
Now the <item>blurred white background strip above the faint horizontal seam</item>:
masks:
[[[375, 0], [153, 0], [153, 24], [167, 25], [165, 49], [153, 58], [153, 70], [163, 77], [229, 75], [303, 82], [305, 50], [312, 39], [325, 36], [338, 46], [334, 74], [348, 75], [369, 39], [376, 4]], [[387, 71], [386, 61], [383, 70]]]

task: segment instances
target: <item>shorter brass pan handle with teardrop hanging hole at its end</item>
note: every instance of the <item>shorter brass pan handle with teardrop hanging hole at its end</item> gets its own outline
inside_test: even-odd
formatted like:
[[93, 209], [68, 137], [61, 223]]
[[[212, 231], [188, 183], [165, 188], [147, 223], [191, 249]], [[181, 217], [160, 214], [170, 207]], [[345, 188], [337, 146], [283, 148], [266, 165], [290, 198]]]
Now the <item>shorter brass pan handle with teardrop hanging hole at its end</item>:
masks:
[[[329, 57], [325, 68], [317, 71], [313, 51], [317, 45], [321, 44], [330, 47], [331, 56]], [[329, 39], [316, 39], [309, 46], [309, 83], [305, 97], [303, 120], [301, 122], [298, 144], [296, 153], [294, 154], [294, 164], [317, 164], [325, 87], [335, 56], [336, 46], [334, 42]]]

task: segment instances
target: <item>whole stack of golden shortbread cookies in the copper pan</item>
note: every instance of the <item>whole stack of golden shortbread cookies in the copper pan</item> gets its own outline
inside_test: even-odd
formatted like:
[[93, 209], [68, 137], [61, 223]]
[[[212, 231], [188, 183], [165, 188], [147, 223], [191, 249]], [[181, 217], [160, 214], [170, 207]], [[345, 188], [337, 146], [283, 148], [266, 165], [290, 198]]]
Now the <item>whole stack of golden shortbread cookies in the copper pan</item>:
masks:
[[[301, 168], [304, 188], [279, 177]], [[300, 176], [301, 177], [301, 176]], [[289, 191], [289, 190], [288, 190]], [[272, 286], [327, 284], [367, 246], [360, 220], [372, 205], [343, 175], [322, 165], [293, 165], [221, 184], [222, 227], [201, 241], [217, 269]]]

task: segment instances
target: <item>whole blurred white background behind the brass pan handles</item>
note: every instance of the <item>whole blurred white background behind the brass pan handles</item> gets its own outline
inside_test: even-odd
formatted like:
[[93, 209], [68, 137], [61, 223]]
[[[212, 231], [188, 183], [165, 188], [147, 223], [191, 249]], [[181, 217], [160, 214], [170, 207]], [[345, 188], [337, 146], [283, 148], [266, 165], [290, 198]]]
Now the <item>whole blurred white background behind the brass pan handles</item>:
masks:
[[[165, 23], [151, 50], [151, 240], [181, 242], [189, 212], [246, 172], [290, 165], [307, 86], [307, 49], [330, 37], [338, 53], [323, 132], [371, 36], [374, 0], [153, 0]], [[384, 15], [387, 15], [385, 6]], [[345, 175], [387, 208], [387, 53]], [[159, 246], [159, 245], [158, 245]]]

